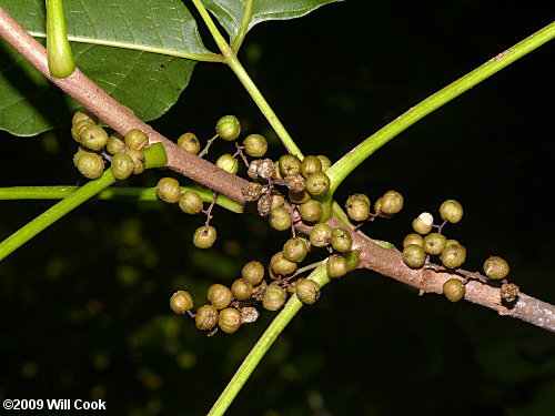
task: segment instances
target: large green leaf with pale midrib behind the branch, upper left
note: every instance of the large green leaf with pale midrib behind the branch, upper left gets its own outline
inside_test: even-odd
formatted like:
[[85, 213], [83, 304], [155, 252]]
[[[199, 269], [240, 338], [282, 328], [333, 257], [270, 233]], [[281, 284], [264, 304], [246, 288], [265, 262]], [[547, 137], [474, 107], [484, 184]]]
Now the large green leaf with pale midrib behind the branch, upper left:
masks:
[[[46, 37], [43, 0], [0, 6], [32, 35]], [[181, 58], [214, 57], [180, 0], [65, 0], [64, 14], [78, 67], [145, 121], [167, 112], [189, 83], [195, 62]], [[11, 47], [0, 47], [0, 129], [33, 135], [67, 123], [79, 104]]]

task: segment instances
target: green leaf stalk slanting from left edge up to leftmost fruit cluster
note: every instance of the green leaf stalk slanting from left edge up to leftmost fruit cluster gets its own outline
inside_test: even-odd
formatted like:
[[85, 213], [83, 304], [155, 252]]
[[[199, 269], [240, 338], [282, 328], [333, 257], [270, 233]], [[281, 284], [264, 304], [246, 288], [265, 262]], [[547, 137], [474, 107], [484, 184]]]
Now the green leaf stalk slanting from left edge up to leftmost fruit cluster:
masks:
[[79, 191], [68, 195], [65, 199], [57, 203], [51, 209], [43, 212], [30, 223], [11, 234], [8, 239], [0, 243], [0, 260], [4, 258], [21, 245], [27, 243], [33, 236], [60, 220], [63, 215], [75, 209], [90, 197], [94, 196], [101, 190], [114, 181], [112, 170], [108, 169], [100, 177], [90, 181]]

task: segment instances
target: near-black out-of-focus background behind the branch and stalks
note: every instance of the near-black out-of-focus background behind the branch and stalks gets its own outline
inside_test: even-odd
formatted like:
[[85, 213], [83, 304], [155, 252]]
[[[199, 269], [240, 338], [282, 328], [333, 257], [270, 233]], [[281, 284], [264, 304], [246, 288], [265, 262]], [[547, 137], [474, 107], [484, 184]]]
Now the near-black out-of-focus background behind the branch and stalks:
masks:
[[[241, 59], [303, 152], [337, 160], [549, 22], [538, 7], [502, 1], [347, 1], [256, 27]], [[553, 93], [548, 44], [400, 134], [354, 171], [337, 200], [402, 192], [400, 215], [364, 229], [400, 246], [414, 216], [456, 199], [465, 217], [446, 233], [467, 246], [466, 267], [501, 255], [512, 282], [553, 303]], [[198, 64], [182, 99], [153, 124], [167, 136], [208, 139], [228, 113], [245, 134], [266, 134], [271, 156], [283, 152], [223, 65]], [[2, 186], [84, 183], [69, 126], [1, 138]], [[232, 150], [213, 149], [212, 161]], [[128, 183], [150, 186], [162, 174]], [[0, 237], [51, 205], [1, 202]], [[168, 301], [186, 288], [202, 304], [212, 283], [231, 284], [249, 260], [268, 262], [285, 236], [262, 219], [218, 210], [219, 241], [200, 251], [190, 241], [203, 221], [162, 203], [90, 201], [2, 261], [0, 398], [205, 414], [275, 313], [210, 338]], [[553, 334], [356, 272], [301, 311], [229, 415], [552, 415], [554, 375]]]

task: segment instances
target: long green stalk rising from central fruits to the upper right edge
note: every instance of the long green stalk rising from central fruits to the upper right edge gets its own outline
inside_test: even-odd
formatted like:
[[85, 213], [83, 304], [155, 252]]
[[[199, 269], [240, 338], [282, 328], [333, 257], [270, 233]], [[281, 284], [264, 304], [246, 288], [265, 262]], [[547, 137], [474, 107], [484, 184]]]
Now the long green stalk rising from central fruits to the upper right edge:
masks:
[[509, 48], [506, 51], [500, 53], [474, 71], [445, 87], [443, 90], [428, 97], [427, 99], [392, 121], [390, 124], [372, 134], [361, 144], [359, 144], [356, 148], [341, 158], [326, 171], [326, 174], [331, 180], [330, 192], [333, 194], [341, 182], [343, 182], [343, 180], [357, 165], [360, 165], [367, 156], [370, 156], [403, 130], [407, 129], [408, 126], [421, 120], [423, 116], [430, 114], [432, 111], [450, 102], [455, 97], [461, 95], [463, 92], [484, 81], [486, 78], [493, 75], [501, 69], [513, 63], [518, 58], [522, 58], [526, 53], [532, 52], [534, 49], [544, 44], [554, 37], [555, 23], [551, 23], [544, 29], [526, 38], [522, 42], [515, 44], [513, 48]]

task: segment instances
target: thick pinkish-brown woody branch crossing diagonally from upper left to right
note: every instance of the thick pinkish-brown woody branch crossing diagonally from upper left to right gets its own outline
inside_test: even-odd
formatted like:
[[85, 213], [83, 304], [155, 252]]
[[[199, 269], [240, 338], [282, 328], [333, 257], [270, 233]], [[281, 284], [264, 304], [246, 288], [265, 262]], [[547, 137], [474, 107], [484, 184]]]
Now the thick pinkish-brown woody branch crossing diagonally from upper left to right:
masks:
[[[75, 70], [65, 79], [49, 75], [47, 51], [24, 29], [22, 29], [2, 8], [0, 8], [0, 35], [23, 55], [44, 77], [60, 89], [73, 97], [83, 106], [97, 114], [101, 120], [121, 134], [131, 129], [140, 129], [149, 134], [151, 142], [161, 142], [168, 153], [167, 168], [179, 172], [219, 193], [222, 193], [244, 205], [241, 187], [246, 181], [232, 175], [210, 162], [192, 155], [175, 143], [143, 123], [133, 112], [121, 105], [103, 90], [95, 85], [81, 71]], [[289, 206], [294, 211], [293, 206]], [[329, 221], [333, 227], [341, 226], [335, 220]], [[295, 229], [309, 234], [311, 226], [300, 221]], [[445, 271], [407, 267], [402, 254], [396, 248], [384, 248], [376, 245], [362, 232], [353, 232], [353, 248], [361, 251], [360, 268], [367, 268], [414, 286], [421, 293], [441, 294], [443, 283], [448, 278], [462, 278], [460, 274]], [[484, 278], [471, 280], [466, 284], [465, 300], [507, 315], [528, 322], [551, 332], [555, 332], [555, 306], [521, 293], [514, 305], [504, 305], [500, 297], [498, 284], [488, 283]]]

